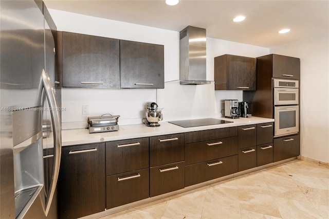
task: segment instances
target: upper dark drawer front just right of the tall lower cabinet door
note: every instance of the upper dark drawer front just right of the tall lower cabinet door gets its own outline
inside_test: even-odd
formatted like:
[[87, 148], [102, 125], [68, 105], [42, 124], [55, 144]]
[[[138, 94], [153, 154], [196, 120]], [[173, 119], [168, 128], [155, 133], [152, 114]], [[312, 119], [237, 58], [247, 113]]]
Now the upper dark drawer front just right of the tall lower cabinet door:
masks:
[[149, 138], [106, 142], [106, 175], [149, 167]]

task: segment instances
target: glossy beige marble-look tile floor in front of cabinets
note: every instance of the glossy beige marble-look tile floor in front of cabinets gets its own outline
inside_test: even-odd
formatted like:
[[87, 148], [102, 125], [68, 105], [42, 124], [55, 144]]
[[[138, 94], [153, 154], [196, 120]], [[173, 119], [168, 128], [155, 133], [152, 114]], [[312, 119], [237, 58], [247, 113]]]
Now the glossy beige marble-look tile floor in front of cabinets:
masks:
[[329, 169], [293, 160], [101, 218], [329, 218]]

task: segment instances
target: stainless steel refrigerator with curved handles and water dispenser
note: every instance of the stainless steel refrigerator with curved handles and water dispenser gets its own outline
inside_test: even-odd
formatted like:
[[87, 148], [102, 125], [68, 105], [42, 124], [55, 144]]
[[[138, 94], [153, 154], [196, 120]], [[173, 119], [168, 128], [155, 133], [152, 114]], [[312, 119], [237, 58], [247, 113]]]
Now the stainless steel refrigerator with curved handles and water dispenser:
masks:
[[0, 1], [0, 218], [57, 218], [60, 90], [44, 12], [42, 1]]

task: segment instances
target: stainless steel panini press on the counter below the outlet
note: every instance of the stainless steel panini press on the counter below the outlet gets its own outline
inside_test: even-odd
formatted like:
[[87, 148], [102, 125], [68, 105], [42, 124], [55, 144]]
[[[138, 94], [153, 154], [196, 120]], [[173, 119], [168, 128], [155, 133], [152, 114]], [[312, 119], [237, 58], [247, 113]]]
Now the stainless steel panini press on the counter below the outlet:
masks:
[[89, 133], [118, 131], [120, 116], [88, 117]]

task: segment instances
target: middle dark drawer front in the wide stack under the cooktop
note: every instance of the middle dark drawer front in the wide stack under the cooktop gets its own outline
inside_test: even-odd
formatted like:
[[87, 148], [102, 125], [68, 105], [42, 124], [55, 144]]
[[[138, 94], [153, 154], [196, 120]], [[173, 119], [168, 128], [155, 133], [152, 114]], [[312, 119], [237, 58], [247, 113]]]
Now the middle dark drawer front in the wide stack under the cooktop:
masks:
[[213, 160], [237, 154], [237, 137], [221, 138], [185, 145], [185, 163]]

